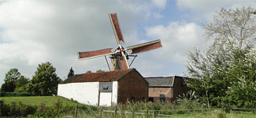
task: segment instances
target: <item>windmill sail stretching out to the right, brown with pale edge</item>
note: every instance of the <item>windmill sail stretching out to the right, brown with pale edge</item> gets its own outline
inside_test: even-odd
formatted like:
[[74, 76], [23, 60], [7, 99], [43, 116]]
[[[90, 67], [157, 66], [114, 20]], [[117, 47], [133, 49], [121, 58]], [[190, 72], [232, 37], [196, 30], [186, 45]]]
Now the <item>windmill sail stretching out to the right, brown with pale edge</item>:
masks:
[[155, 40], [155, 41], [149, 41], [143, 44], [139, 45], [133, 45], [127, 48], [127, 50], [132, 50], [132, 54], [141, 53], [141, 52], [147, 52], [156, 48], [161, 48], [161, 41]]

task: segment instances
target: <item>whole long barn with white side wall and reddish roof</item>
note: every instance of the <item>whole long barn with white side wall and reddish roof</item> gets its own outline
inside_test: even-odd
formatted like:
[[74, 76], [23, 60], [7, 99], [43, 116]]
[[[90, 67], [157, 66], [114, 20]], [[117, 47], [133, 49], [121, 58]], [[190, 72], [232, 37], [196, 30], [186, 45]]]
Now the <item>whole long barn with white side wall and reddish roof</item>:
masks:
[[135, 69], [76, 74], [58, 84], [58, 95], [86, 105], [148, 101], [147, 80]]

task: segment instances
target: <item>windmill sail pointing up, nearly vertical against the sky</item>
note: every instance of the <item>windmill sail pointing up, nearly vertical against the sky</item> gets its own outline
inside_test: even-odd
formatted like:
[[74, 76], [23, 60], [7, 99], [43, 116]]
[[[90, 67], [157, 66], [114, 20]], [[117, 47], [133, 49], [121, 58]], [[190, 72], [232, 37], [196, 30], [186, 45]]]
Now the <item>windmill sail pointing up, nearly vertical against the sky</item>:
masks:
[[122, 41], [122, 43], [124, 43], [124, 38], [123, 38], [123, 34], [121, 32], [119, 22], [117, 20], [117, 13], [109, 13], [109, 18], [110, 18], [110, 21], [113, 26], [113, 31], [116, 35], [118, 45], [121, 45], [121, 41]]

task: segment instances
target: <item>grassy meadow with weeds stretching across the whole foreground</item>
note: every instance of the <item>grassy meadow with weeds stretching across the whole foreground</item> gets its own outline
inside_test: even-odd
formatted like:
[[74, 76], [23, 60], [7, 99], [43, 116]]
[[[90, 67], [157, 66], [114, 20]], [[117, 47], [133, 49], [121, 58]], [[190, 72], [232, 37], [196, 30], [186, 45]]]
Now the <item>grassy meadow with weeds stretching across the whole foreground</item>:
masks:
[[[1, 116], [14, 117], [176, 117], [176, 118], [253, 118], [254, 110], [238, 112], [218, 108], [207, 109], [198, 102], [179, 105], [161, 102], [127, 102], [109, 107], [82, 105], [58, 96], [2, 97]], [[4, 110], [9, 109], [9, 110]], [[5, 113], [6, 112], [6, 113]]]

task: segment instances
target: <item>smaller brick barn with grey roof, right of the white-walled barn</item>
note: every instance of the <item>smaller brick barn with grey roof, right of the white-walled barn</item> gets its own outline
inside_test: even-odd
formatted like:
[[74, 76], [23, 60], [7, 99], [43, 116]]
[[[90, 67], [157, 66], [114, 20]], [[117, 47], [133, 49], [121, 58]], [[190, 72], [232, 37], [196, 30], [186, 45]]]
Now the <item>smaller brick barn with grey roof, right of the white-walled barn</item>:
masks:
[[185, 77], [145, 77], [149, 83], [150, 102], [174, 102], [179, 95], [191, 89], [187, 87]]

